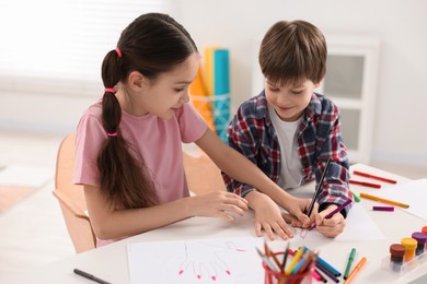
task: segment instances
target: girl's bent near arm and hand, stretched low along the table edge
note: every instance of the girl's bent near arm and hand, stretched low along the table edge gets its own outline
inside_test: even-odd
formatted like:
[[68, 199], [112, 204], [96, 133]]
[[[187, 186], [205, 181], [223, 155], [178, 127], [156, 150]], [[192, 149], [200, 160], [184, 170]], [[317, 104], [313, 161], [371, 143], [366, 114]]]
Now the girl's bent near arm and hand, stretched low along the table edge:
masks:
[[211, 216], [228, 221], [233, 213], [243, 215], [246, 201], [230, 192], [215, 191], [142, 209], [115, 209], [100, 187], [84, 186], [89, 216], [100, 239], [137, 235], [192, 216]]

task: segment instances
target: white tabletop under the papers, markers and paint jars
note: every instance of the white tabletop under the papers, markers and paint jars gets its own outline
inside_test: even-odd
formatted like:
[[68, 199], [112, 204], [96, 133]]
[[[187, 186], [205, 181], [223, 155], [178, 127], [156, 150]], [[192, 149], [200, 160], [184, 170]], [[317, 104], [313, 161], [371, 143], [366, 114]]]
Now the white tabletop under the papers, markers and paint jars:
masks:
[[[350, 169], [365, 170], [373, 175], [393, 178], [399, 182], [411, 181], [407, 178], [362, 164], [356, 164], [351, 166]], [[354, 178], [356, 179], [356, 176]], [[357, 177], [357, 179], [362, 178]], [[392, 186], [372, 179], [369, 181], [381, 184], [382, 188]], [[355, 192], [369, 192], [374, 190], [355, 185], [350, 185], [350, 188]], [[339, 242], [328, 239], [327, 241], [304, 242], [301, 245], [320, 250], [320, 256], [339, 271], [344, 271], [348, 252], [351, 248], [357, 248], [359, 256], [365, 256], [368, 259], [368, 262], [351, 283], [408, 283], [425, 274], [427, 272], [427, 261], [402, 275], [382, 269], [381, 262], [384, 258], [390, 256], [389, 247], [391, 244], [400, 242], [402, 237], [411, 236], [413, 232], [420, 230], [423, 226], [427, 225], [427, 222], [399, 209], [389, 214], [385, 212], [373, 212], [370, 209], [372, 208], [372, 204], [376, 204], [377, 202], [366, 199], [362, 199], [361, 202], [378, 227], [384, 234], [385, 239]], [[245, 216], [239, 217], [233, 223], [217, 218], [196, 217], [140, 234], [25, 273], [0, 275], [0, 283], [94, 283], [76, 275], [72, 272], [74, 268], [79, 268], [111, 283], [129, 283], [126, 250], [128, 244], [247, 236], [255, 236], [253, 228], [253, 212], [249, 212]], [[296, 242], [291, 244], [292, 247], [298, 245]], [[328, 282], [332, 283], [331, 280]]]

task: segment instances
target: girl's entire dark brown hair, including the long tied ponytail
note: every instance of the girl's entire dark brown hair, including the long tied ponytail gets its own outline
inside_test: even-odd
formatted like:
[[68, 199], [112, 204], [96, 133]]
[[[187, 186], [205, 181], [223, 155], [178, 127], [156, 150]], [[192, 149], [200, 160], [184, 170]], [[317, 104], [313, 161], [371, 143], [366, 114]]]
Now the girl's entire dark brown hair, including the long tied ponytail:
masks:
[[[185, 61], [197, 47], [189, 34], [166, 14], [148, 13], [137, 17], [120, 35], [118, 51], [111, 50], [102, 64], [102, 80], [106, 88], [126, 82], [132, 71], [149, 80], [171, 71]], [[108, 91], [108, 90], [106, 90]], [[112, 92], [102, 98], [102, 123], [109, 135], [103, 143], [99, 157], [102, 192], [112, 203], [119, 202], [125, 209], [158, 204], [152, 180], [142, 156], [119, 132], [120, 105]]]

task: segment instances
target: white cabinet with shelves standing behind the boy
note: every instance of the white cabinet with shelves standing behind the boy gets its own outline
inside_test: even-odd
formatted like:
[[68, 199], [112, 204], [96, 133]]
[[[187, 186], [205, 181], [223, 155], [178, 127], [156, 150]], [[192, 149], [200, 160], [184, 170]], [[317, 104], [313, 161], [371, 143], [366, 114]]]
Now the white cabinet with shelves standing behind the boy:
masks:
[[[369, 164], [374, 130], [379, 39], [367, 35], [325, 34], [326, 76], [316, 90], [339, 108], [342, 133], [350, 163]], [[256, 40], [253, 94], [264, 88]]]

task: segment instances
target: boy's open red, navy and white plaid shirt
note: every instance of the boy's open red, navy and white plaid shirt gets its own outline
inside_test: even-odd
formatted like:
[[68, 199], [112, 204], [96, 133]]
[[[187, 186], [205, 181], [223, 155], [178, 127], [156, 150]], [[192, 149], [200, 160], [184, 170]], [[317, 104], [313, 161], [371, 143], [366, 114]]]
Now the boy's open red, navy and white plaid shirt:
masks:
[[[280, 175], [280, 145], [273, 127], [264, 91], [243, 103], [231, 120], [228, 132], [230, 146], [257, 165], [273, 181]], [[327, 203], [342, 204], [353, 199], [348, 189], [349, 164], [344, 145], [338, 108], [321, 94], [313, 93], [298, 129], [298, 151], [302, 167], [302, 184], [319, 182], [328, 158], [332, 159], [319, 196], [320, 210]], [[222, 173], [227, 190], [242, 197], [255, 190]], [[348, 209], [348, 208], [346, 208]]]

